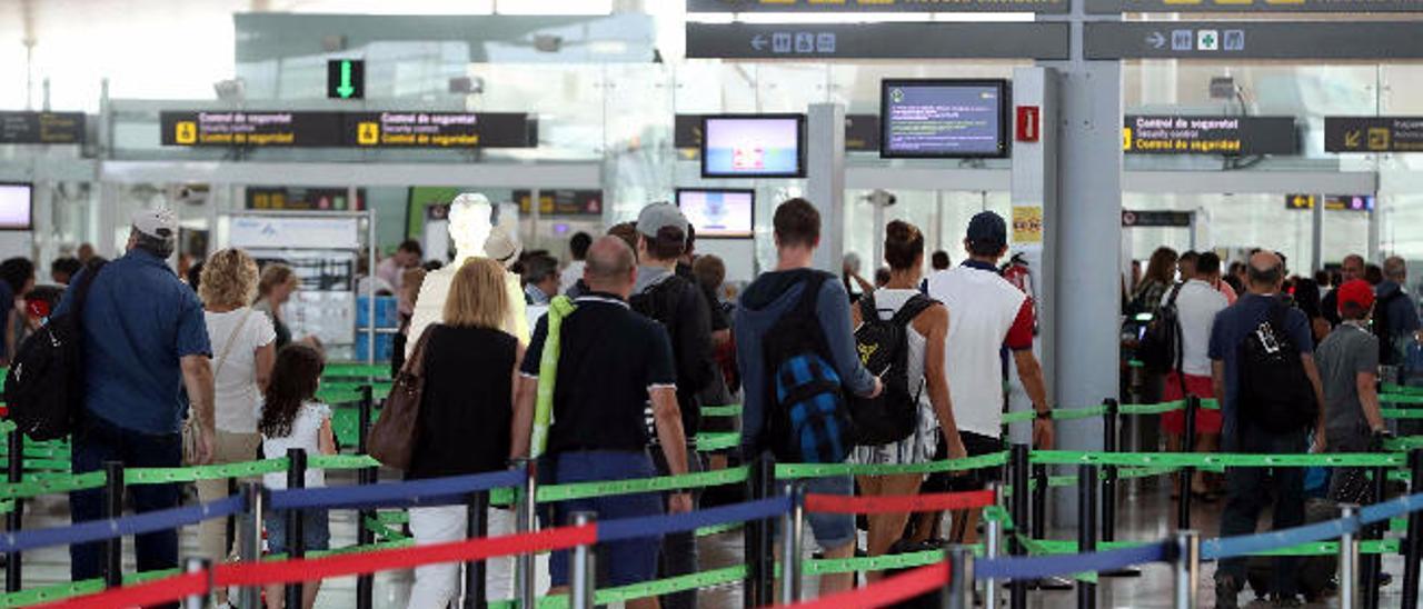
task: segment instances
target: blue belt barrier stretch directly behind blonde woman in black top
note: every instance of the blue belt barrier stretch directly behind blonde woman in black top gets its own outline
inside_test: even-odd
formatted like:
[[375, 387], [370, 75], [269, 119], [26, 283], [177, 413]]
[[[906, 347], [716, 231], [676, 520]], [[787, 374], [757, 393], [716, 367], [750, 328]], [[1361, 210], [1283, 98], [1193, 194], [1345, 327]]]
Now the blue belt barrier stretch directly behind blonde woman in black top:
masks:
[[462, 502], [462, 495], [470, 492], [518, 487], [521, 484], [524, 484], [524, 472], [508, 470], [450, 478], [413, 480], [408, 482], [292, 488], [273, 491], [268, 507], [272, 509], [333, 509], [445, 505]]

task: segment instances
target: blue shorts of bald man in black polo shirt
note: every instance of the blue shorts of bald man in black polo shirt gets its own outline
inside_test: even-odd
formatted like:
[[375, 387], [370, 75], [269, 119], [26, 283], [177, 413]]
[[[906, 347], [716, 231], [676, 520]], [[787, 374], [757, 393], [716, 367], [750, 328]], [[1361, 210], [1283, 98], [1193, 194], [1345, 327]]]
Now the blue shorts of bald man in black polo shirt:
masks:
[[[561, 452], [554, 460], [554, 482], [573, 484], [609, 480], [652, 478], [657, 471], [643, 451], [586, 451]], [[552, 526], [569, 524], [573, 512], [595, 512], [599, 521], [642, 518], [660, 515], [662, 494], [640, 492], [632, 495], [610, 495], [588, 499], [559, 501], [554, 504]], [[548, 524], [545, 524], [548, 525]], [[598, 569], [606, 569], [609, 586], [640, 583], [657, 576], [657, 551], [662, 535], [599, 544]], [[554, 586], [568, 585], [568, 551], [558, 551], [549, 558], [548, 572]], [[599, 585], [603, 585], [599, 582]]]

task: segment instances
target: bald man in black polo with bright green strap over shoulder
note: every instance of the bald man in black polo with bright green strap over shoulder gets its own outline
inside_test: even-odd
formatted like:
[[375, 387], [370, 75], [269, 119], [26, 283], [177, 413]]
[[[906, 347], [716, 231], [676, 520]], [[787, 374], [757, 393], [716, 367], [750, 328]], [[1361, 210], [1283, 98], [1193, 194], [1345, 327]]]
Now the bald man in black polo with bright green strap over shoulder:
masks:
[[[636, 279], [632, 250], [620, 239], [605, 236], [588, 250], [583, 280], [588, 293], [562, 319], [551, 340], [549, 317], [539, 320], [532, 341], [519, 366], [509, 457], [527, 457], [532, 444], [535, 398], [539, 391], [539, 367], [545, 349], [558, 349], [558, 380], [554, 383], [548, 450], [539, 458], [551, 467], [552, 484], [578, 484], [656, 475], [647, 447], [655, 435], [672, 475], [687, 472], [687, 441], [677, 408], [676, 370], [667, 333], [656, 323], [629, 310], [628, 297]], [[556, 304], [555, 304], [556, 306]], [[645, 411], [652, 404], [649, 434]], [[667, 512], [692, 509], [686, 492], [666, 498]], [[556, 526], [569, 524], [579, 511], [596, 512], [601, 519], [628, 519], [659, 515], [663, 499], [640, 492], [559, 501], [552, 507]], [[656, 576], [660, 536], [615, 541], [602, 545], [599, 563], [608, 568], [608, 583], [626, 586]], [[568, 551], [549, 558], [554, 589], [566, 592], [569, 582]], [[655, 608], [656, 598], [630, 600], [629, 608]]]

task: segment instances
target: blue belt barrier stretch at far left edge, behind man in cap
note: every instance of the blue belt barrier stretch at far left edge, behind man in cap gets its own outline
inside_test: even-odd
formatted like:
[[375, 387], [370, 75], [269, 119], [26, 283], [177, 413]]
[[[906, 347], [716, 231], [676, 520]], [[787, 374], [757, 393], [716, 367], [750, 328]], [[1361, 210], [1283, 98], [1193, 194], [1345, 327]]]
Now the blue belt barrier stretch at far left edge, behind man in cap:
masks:
[[70, 526], [20, 531], [0, 535], [0, 552], [23, 552], [54, 545], [88, 544], [125, 535], [142, 535], [223, 518], [246, 509], [246, 498], [233, 495], [209, 504], [186, 508], [159, 509], [104, 521], [78, 522]]

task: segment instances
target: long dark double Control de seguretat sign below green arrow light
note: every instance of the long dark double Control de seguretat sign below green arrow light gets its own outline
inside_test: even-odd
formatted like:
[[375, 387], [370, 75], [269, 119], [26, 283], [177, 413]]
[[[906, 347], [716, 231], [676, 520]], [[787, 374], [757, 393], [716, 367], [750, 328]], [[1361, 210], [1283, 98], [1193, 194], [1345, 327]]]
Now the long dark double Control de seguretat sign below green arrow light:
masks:
[[521, 112], [162, 112], [162, 144], [250, 148], [534, 148]]

